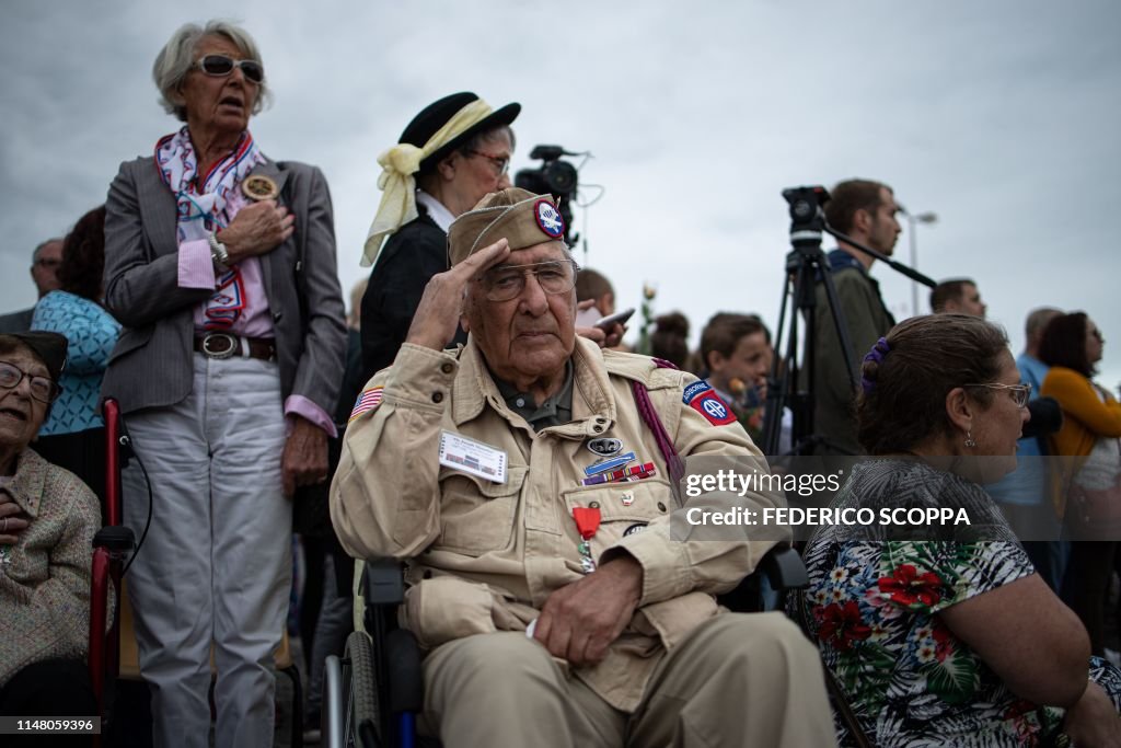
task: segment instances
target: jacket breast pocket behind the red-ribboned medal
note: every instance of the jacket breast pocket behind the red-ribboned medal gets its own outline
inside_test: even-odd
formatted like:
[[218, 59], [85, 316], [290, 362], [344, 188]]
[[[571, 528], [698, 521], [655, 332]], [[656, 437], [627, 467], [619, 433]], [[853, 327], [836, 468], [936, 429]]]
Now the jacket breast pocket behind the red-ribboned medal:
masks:
[[[576, 507], [600, 510], [600, 527], [592, 537], [592, 554], [596, 557], [623, 537], [646, 532], [651, 521], [668, 517], [673, 510], [669, 481], [663, 478], [573, 488], [562, 497], [569, 518]], [[575, 528], [571, 520], [569, 525]]]

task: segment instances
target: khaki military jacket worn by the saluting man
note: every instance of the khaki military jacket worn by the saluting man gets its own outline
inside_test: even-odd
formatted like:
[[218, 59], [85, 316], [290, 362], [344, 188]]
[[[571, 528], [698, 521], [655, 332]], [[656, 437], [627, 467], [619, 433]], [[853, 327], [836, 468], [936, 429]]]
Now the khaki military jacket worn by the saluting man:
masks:
[[[702, 455], [758, 449], [736, 423], [713, 425], [683, 401], [692, 375], [658, 369], [646, 357], [601, 351], [577, 339], [573, 353], [573, 419], [535, 433], [511, 412], [469, 339], [458, 354], [405, 344], [393, 366], [370, 386], [383, 399], [346, 430], [331, 490], [331, 516], [354, 556], [410, 560], [411, 587], [402, 624], [421, 646], [497, 630], [524, 630], [549, 594], [582, 576], [574, 507], [597, 505], [602, 524], [591, 541], [599, 561], [629, 553], [643, 570], [642, 597], [631, 625], [608, 657], [575, 675], [618, 709], [632, 711], [661, 655], [698, 624], [717, 615], [714, 593], [733, 588], [773, 541], [680, 542], [670, 516], [682, 505], [631, 390], [642, 382], [686, 470]], [[503, 483], [439, 464], [447, 431], [506, 452]], [[584, 468], [597, 458], [587, 441], [609, 436], [657, 473], [636, 482], [585, 487]], [[632, 463], [633, 464], [633, 463]], [[706, 493], [692, 506], [759, 509], [775, 496]], [[674, 518], [675, 534], [683, 525]], [[628, 533], [630, 530], [630, 533]]]

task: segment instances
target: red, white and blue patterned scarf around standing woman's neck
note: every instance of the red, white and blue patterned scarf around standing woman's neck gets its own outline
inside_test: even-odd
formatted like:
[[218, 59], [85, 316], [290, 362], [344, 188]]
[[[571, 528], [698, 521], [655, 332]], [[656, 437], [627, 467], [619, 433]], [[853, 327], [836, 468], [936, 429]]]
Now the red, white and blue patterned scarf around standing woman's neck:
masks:
[[[253, 136], [245, 130], [230, 155], [197, 181], [202, 184], [200, 190], [196, 186], [198, 159], [187, 127], [160, 138], [156, 144], [156, 166], [164, 184], [175, 194], [179, 242], [206, 239], [215, 228], [229, 225], [231, 216], [226, 207], [230, 198], [253, 167], [263, 163], [265, 157], [257, 149]], [[241, 269], [233, 266], [219, 276], [217, 288], [206, 301], [205, 326], [209, 330], [230, 327], [241, 316], [244, 306]]]

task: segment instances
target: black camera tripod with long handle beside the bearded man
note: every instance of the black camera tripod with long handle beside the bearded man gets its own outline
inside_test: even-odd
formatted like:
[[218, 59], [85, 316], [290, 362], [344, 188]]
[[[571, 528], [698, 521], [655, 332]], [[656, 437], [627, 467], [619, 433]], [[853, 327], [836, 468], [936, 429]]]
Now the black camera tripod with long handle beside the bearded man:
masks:
[[[789, 187], [782, 191], [782, 197], [790, 204], [790, 246], [786, 256], [786, 269], [782, 280], [782, 302], [779, 306], [778, 327], [775, 332], [775, 350], [781, 350], [786, 313], [791, 303], [805, 320], [806, 357], [804, 366], [798, 363], [798, 317], [790, 315], [789, 334], [786, 339], [786, 353], [776, 357], [771, 366], [770, 386], [767, 388], [767, 415], [763, 421], [763, 454], [779, 454], [779, 436], [781, 433], [782, 412], [789, 403], [794, 413], [794, 431], [790, 440], [791, 455], [813, 454], [818, 446], [825, 446], [833, 452], [844, 452], [822, 434], [816, 433], [814, 424], [814, 407], [816, 405], [817, 361], [817, 281], [825, 288], [825, 299], [833, 318], [834, 333], [841, 341], [841, 350], [845, 351], [844, 367], [849, 376], [849, 385], [856, 391], [858, 377], [853, 366], [855, 359], [852, 342], [849, 340], [849, 327], [844, 313], [837, 301], [836, 286], [830, 269], [828, 259], [822, 251], [822, 234], [828, 233], [840, 241], [881, 260], [892, 269], [904, 274], [930, 288], [934, 280], [890, 257], [864, 247], [825, 222], [822, 205], [830, 195], [825, 187]], [[802, 369], [805, 376], [799, 378]]]

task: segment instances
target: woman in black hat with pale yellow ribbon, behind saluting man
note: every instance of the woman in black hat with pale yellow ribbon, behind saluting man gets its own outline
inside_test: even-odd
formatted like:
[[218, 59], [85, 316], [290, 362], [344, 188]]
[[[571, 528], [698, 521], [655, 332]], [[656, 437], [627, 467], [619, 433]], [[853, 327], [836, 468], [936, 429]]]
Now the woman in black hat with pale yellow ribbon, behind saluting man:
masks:
[[452, 221], [510, 186], [510, 123], [520, 111], [453, 93], [425, 107], [378, 157], [381, 204], [362, 253], [362, 265], [374, 266], [362, 297], [363, 381], [392, 363], [425, 284], [447, 270]]

